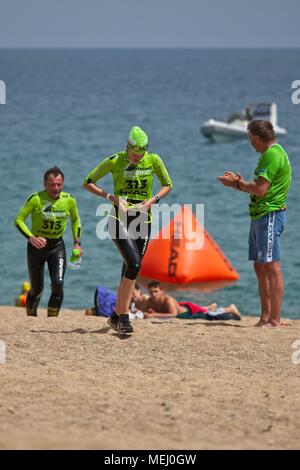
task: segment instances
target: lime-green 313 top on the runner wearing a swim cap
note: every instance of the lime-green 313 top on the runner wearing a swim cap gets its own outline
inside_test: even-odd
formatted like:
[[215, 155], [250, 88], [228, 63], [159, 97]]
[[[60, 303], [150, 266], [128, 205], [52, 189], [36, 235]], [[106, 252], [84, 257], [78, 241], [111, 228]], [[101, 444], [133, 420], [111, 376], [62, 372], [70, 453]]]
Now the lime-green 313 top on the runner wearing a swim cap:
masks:
[[144, 201], [152, 197], [153, 174], [162, 186], [172, 187], [172, 181], [162, 159], [146, 152], [137, 164], [129, 161], [127, 152], [118, 152], [105, 158], [85, 178], [83, 184], [96, 183], [107, 173], [112, 173], [114, 194], [129, 200]]

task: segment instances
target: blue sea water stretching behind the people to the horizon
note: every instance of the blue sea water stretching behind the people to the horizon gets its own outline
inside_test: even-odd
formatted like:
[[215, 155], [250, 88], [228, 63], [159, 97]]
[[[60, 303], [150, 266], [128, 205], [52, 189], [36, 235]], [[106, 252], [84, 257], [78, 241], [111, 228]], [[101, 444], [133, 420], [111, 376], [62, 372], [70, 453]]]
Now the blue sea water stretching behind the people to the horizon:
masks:
[[[65, 190], [77, 198], [84, 230], [84, 259], [78, 271], [66, 273], [64, 306], [91, 306], [97, 284], [116, 289], [120, 255], [111, 241], [97, 239], [100, 200], [81, 183], [105, 156], [124, 149], [130, 128], [140, 125], [170, 171], [174, 189], [168, 202], [204, 204], [205, 228], [240, 274], [230, 287], [178, 291], [175, 297], [233, 302], [243, 314], [259, 314], [247, 261], [248, 195], [216, 180], [226, 169], [252, 178], [258, 155], [247, 140], [210, 144], [200, 126], [209, 117], [225, 119], [249, 102], [267, 100], [277, 103], [279, 125], [288, 130], [280, 141], [293, 167], [282, 235], [283, 314], [299, 318], [300, 105], [291, 101], [299, 65], [298, 50], [0, 50], [0, 80], [7, 87], [7, 104], [0, 105], [0, 303], [13, 304], [28, 279], [26, 241], [14, 217], [25, 198], [42, 189], [42, 175], [53, 165], [62, 168]], [[110, 177], [103, 186], [112, 189]], [[65, 241], [70, 252], [70, 225]], [[49, 285], [47, 274], [42, 306]]]

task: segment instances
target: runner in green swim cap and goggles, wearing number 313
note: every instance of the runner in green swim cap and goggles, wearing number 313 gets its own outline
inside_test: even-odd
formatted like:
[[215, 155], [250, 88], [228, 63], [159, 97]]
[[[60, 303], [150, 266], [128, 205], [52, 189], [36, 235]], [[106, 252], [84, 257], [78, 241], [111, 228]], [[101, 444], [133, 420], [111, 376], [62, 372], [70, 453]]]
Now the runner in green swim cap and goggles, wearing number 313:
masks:
[[[96, 185], [107, 173], [112, 174], [114, 194]], [[161, 189], [153, 197], [154, 174], [160, 181]], [[119, 333], [132, 333], [128, 311], [135, 280], [149, 242], [151, 206], [171, 191], [172, 181], [159, 155], [148, 152], [147, 134], [134, 126], [126, 150], [105, 158], [88, 174], [83, 185], [91, 193], [113, 204], [111, 217], [108, 218], [108, 232], [124, 263], [116, 311], [108, 322]]]

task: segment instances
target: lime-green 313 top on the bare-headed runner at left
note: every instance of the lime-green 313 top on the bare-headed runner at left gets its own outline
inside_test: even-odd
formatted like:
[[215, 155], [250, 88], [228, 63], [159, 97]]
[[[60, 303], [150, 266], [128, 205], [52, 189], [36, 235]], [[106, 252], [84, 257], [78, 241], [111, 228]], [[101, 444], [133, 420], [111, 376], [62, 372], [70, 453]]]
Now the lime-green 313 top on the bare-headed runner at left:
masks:
[[[25, 224], [31, 214], [31, 231]], [[21, 207], [15, 219], [17, 229], [26, 238], [33, 235], [44, 238], [60, 238], [63, 236], [67, 219], [70, 217], [74, 238], [80, 237], [81, 223], [76, 199], [63, 191], [57, 199], [51, 199], [46, 191], [33, 193]]]

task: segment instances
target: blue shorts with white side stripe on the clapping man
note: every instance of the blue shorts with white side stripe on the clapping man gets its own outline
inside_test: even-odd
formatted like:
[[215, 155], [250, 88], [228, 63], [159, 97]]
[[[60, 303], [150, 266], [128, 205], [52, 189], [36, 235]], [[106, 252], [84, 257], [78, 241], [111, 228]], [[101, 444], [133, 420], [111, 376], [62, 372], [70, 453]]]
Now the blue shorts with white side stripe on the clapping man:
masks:
[[284, 210], [269, 212], [258, 220], [251, 220], [249, 232], [249, 261], [270, 263], [280, 261], [280, 235], [284, 230]]

